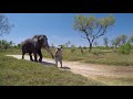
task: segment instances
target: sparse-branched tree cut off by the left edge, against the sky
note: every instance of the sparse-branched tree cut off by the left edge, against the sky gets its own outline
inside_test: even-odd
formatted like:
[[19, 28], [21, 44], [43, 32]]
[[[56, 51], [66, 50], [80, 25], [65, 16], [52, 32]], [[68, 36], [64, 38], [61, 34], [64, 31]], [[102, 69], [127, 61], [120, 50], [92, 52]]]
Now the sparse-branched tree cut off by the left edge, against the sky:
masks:
[[9, 19], [6, 15], [0, 14], [0, 35], [9, 34], [12, 26], [13, 25], [9, 23]]

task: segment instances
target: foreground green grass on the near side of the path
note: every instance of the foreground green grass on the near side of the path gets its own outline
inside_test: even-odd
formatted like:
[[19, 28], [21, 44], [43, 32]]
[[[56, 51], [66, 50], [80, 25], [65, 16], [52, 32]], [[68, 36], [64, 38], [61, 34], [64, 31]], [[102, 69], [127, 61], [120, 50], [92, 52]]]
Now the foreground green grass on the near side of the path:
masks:
[[34, 62], [16, 59], [0, 53], [0, 86], [101, 86], [68, 70]]

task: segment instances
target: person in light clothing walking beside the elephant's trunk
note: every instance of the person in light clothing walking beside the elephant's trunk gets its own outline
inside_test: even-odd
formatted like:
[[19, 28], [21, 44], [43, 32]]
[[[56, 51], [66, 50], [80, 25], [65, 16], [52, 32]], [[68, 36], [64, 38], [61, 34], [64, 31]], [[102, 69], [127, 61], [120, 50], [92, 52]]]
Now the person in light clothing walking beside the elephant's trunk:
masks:
[[62, 47], [58, 47], [58, 50], [54, 53], [54, 57], [55, 57], [55, 66], [58, 67], [58, 62], [60, 62], [62, 68]]

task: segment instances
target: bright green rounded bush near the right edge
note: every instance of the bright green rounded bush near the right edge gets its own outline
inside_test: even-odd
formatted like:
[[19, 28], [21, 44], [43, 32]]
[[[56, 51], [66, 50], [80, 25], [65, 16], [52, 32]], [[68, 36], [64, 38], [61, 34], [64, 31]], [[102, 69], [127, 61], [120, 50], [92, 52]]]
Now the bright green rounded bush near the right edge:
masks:
[[122, 54], [130, 54], [131, 53], [131, 48], [132, 48], [131, 44], [126, 43], [126, 44], [124, 44], [123, 46], [121, 46], [119, 48], [119, 52], [122, 53]]

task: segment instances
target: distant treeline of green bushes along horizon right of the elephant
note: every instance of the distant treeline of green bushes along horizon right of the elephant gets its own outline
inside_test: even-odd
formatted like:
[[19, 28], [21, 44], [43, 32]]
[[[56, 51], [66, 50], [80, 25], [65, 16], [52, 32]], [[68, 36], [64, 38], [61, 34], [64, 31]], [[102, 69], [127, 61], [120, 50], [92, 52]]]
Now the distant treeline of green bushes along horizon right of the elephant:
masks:
[[[70, 48], [72, 53], [74, 53], [78, 48], [81, 51], [81, 53], [84, 53], [84, 50], [89, 48], [86, 46], [75, 46], [70, 41], [59, 46], [62, 46], [63, 48]], [[51, 47], [55, 47], [53, 43], [51, 44]], [[112, 52], [115, 53], [130, 54], [131, 50], [133, 50], [133, 35], [119, 35], [113, 40], [104, 37], [103, 45], [99, 46], [99, 43], [94, 42], [92, 47], [99, 50], [112, 50]]]

